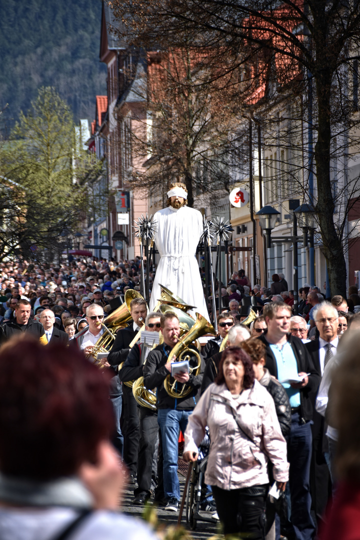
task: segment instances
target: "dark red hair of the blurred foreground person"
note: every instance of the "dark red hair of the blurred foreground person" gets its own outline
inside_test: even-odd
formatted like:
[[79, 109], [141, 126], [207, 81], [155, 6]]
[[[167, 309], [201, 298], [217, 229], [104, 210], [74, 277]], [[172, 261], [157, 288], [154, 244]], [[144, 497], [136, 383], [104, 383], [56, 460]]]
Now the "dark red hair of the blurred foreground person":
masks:
[[30, 338], [0, 349], [0, 470], [48, 481], [94, 462], [113, 432], [108, 377], [64, 345]]

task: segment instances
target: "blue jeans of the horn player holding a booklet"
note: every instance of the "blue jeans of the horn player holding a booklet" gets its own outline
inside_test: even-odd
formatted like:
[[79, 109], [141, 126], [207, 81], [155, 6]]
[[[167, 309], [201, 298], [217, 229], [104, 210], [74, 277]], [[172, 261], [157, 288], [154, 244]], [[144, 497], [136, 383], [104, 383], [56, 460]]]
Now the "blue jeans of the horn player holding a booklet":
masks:
[[178, 453], [180, 430], [184, 434], [191, 410], [159, 409], [158, 424], [162, 436], [164, 454], [164, 494], [165, 499], [175, 498], [180, 501], [178, 477]]

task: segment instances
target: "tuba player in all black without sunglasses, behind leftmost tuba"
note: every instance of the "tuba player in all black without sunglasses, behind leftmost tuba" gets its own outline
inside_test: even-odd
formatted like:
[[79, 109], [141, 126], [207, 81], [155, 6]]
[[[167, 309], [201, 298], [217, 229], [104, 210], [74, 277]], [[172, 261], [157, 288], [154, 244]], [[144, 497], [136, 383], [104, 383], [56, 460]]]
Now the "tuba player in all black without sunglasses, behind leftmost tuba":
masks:
[[[147, 314], [146, 301], [142, 298], [134, 298], [130, 302], [130, 313], [133, 322], [126, 328], [120, 328], [107, 357], [110, 366], [116, 369], [127, 359], [127, 355], [130, 352], [130, 343], [144, 325]], [[139, 417], [137, 413], [137, 402], [133, 396], [132, 388], [124, 384], [123, 408], [123, 426], [121, 427], [124, 436], [124, 461], [129, 469], [131, 481], [134, 484], [138, 463]]]

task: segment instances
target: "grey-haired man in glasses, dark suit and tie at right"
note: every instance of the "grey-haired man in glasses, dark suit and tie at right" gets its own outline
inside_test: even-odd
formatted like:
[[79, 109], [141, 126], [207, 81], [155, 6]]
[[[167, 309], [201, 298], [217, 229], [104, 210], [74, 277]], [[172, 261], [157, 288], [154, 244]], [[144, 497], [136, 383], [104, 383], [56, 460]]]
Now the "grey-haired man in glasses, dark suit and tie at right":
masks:
[[[308, 349], [318, 373], [323, 376], [324, 368], [332, 356], [335, 355], [339, 342], [337, 335], [339, 314], [335, 306], [331, 305], [330, 302], [324, 301], [314, 310], [314, 320], [320, 336], [318, 339], [307, 343], [305, 347]], [[317, 390], [318, 388], [310, 394], [310, 399], [314, 406]], [[324, 457], [324, 451], [327, 451], [327, 448], [323, 448], [325, 419], [315, 411], [313, 420], [313, 475], [311, 478], [311, 495], [313, 497], [316, 517], [321, 518], [330, 494], [330, 478], [328, 465]]]

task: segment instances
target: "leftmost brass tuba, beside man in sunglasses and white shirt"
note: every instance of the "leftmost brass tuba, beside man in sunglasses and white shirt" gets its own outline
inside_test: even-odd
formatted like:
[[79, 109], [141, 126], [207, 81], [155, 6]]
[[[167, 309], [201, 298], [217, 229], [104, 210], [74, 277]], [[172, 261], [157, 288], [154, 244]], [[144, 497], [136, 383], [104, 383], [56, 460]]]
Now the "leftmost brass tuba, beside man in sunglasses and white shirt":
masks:
[[92, 348], [91, 355], [96, 359], [98, 353], [108, 353], [116, 338], [119, 328], [124, 328], [131, 320], [130, 303], [134, 298], [142, 298], [141, 294], [133, 289], [128, 289], [125, 293], [125, 301], [113, 313], [108, 315], [101, 326], [104, 328], [103, 335]]

